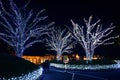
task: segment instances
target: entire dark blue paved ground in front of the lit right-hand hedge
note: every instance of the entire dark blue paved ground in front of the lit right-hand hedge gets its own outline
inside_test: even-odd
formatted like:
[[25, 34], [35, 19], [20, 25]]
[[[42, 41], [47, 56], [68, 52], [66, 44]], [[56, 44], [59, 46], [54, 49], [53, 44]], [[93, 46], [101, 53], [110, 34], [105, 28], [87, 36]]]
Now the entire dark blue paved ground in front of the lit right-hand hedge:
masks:
[[48, 73], [43, 74], [41, 80], [120, 80], [120, 70], [64, 72], [64, 70], [52, 68]]

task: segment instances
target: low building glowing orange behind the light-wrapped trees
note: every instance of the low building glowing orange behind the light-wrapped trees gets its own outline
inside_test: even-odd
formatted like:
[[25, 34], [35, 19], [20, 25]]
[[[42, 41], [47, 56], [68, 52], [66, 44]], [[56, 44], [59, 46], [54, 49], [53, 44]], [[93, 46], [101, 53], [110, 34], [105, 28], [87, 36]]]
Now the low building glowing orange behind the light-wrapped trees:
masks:
[[[78, 54], [64, 54], [61, 56], [61, 60], [63, 60], [64, 56], [68, 56], [69, 60], [87, 60], [86, 56], [79, 56]], [[33, 62], [35, 64], [41, 64], [43, 63], [45, 60], [54, 60], [56, 59], [56, 55], [50, 55], [50, 54], [46, 54], [44, 56], [23, 56], [22, 58]], [[93, 59], [102, 59], [103, 57], [100, 55], [94, 55]]]

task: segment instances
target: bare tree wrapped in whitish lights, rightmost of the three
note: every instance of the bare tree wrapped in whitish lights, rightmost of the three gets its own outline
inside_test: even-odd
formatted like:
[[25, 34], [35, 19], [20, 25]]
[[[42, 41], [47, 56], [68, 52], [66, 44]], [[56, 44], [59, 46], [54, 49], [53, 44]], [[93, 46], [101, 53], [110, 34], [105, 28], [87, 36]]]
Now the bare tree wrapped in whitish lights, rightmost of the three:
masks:
[[94, 50], [98, 46], [113, 44], [114, 42], [111, 39], [119, 37], [108, 37], [113, 32], [115, 26], [111, 25], [106, 29], [102, 29], [103, 25], [99, 23], [100, 19], [92, 23], [92, 16], [88, 20], [84, 19], [85, 26], [80, 26], [73, 20], [71, 22], [73, 28], [69, 28], [69, 31], [72, 33], [72, 37], [84, 48], [88, 61], [92, 60]]

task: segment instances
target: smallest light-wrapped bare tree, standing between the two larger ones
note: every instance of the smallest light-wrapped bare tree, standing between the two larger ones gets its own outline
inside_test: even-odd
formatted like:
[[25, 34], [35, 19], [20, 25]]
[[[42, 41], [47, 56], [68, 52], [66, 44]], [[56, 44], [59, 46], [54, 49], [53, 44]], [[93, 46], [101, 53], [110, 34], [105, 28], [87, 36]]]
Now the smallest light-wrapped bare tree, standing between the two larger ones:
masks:
[[57, 52], [57, 60], [60, 60], [60, 56], [63, 53], [71, 53], [73, 48], [73, 41], [71, 40], [71, 33], [67, 32], [65, 29], [60, 28], [52, 29], [52, 32], [48, 33], [48, 39], [46, 39], [46, 46], [50, 50]]

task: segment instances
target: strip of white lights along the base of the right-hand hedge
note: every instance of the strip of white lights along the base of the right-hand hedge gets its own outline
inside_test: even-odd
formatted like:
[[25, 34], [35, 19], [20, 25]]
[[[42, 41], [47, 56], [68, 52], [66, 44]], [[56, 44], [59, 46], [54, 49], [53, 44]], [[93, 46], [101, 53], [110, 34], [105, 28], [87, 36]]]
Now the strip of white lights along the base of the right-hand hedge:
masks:
[[[80, 69], [80, 70], [101, 70], [101, 69], [120, 69], [120, 60], [114, 60], [117, 64], [110, 65], [69, 65], [67, 69]], [[51, 63], [51, 66], [64, 69], [65, 64]]]

